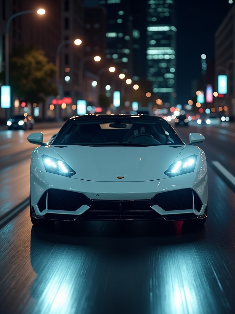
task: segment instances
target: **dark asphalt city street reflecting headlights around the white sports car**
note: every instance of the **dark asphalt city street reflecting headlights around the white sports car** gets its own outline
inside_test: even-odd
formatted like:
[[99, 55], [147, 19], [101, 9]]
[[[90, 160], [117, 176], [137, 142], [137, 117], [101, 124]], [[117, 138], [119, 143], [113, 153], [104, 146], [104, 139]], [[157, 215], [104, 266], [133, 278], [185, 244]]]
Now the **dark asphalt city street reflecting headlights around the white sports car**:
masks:
[[[43, 130], [45, 138], [55, 131]], [[229, 177], [219, 171], [223, 168], [215, 165], [234, 178], [235, 126], [190, 125], [176, 131], [185, 143], [190, 132], [206, 137], [200, 146], [208, 164], [206, 224], [78, 221], [42, 228], [31, 224], [26, 205], [0, 229], [4, 314], [234, 313], [235, 194]], [[0, 131], [5, 212], [29, 197], [34, 149], [26, 140], [29, 133]]]

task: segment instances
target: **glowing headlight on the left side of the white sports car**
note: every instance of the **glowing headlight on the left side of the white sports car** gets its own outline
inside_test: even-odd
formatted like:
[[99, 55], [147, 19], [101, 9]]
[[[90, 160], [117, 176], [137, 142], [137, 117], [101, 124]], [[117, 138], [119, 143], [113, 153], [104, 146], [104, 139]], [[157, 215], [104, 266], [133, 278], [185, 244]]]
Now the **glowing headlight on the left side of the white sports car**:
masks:
[[55, 173], [69, 178], [76, 174], [76, 172], [68, 164], [66, 164], [64, 160], [42, 155], [42, 162], [46, 172]]

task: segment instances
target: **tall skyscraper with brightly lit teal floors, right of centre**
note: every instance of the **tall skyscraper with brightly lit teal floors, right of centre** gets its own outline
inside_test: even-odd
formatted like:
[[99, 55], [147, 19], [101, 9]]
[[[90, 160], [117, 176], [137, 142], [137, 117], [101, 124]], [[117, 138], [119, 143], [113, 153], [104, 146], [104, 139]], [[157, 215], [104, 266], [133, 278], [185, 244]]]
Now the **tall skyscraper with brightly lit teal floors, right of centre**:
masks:
[[146, 4], [147, 79], [153, 93], [175, 105], [176, 28], [174, 0]]

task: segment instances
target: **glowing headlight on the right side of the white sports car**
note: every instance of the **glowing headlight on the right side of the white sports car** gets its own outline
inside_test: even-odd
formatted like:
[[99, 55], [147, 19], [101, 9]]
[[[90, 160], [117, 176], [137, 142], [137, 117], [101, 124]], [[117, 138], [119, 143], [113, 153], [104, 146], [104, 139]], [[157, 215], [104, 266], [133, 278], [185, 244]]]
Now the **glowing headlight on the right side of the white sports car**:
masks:
[[197, 155], [191, 155], [178, 161], [174, 161], [164, 174], [169, 177], [173, 177], [193, 172], [196, 166], [196, 161]]

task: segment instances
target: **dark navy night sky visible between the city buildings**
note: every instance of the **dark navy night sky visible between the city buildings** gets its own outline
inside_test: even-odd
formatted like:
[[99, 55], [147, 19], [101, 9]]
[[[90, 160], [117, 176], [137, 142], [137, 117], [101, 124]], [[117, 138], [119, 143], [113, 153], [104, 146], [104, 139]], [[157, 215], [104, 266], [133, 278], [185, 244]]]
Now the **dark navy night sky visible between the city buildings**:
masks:
[[[96, 7], [98, 0], [84, 0], [84, 5]], [[191, 82], [201, 75], [201, 54], [207, 61], [214, 56], [214, 34], [232, 5], [228, 0], [175, 0], [177, 103], [191, 98]]]

